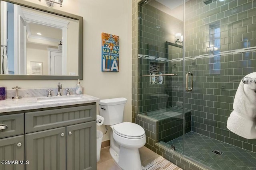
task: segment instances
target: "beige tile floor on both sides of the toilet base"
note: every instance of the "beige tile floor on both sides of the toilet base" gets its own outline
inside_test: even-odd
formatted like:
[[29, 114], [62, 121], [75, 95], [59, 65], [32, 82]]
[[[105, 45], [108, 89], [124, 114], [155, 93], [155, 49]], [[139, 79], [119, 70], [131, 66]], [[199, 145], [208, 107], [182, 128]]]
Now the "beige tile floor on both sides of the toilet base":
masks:
[[[140, 150], [140, 160], [142, 166], [147, 165], [152, 162], [156, 158], [158, 158], [158, 154], [153, 152], [152, 150], [142, 147]], [[100, 151], [100, 161], [97, 162], [97, 170], [122, 170], [116, 162], [112, 159], [109, 153], [109, 147], [102, 148]]]

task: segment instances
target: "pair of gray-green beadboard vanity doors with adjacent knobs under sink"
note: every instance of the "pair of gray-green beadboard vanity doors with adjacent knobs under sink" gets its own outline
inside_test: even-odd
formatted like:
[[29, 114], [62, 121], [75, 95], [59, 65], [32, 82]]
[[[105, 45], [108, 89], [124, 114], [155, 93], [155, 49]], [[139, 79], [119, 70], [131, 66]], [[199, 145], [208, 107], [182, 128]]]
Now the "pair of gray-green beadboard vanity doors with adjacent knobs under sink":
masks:
[[96, 123], [86, 122], [26, 134], [26, 170], [96, 169], [95, 132]]

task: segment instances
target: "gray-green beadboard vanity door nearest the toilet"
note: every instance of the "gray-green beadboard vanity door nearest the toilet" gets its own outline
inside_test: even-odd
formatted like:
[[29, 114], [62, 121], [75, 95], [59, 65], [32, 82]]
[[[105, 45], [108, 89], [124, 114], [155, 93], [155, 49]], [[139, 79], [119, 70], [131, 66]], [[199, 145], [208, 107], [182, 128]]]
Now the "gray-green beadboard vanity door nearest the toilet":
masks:
[[67, 170], [96, 170], [96, 122], [67, 126]]

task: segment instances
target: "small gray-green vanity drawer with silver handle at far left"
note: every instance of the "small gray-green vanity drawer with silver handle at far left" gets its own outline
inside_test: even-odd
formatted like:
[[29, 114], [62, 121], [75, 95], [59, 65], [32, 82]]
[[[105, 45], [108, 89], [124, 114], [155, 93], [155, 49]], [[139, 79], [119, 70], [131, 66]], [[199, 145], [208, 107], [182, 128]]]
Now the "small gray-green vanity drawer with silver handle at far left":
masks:
[[24, 113], [2, 115], [0, 116], [0, 124], [8, 126], [7, 129], [0, 130], [0, 139], [24, 134]]

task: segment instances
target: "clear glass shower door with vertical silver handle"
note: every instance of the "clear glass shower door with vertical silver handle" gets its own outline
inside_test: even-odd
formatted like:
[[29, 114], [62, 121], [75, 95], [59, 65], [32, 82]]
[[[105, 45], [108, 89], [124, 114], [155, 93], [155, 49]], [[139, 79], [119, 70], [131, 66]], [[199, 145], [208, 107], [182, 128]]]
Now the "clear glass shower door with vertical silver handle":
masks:
[[[226, 125], [241, 79], [256, 70], [256, 3], [189, 0], [184, 8], [185, 72], [193, 74], [193, 89], [185, 92], [192, 120], [184, 155], [212, 169], [254, 169], [255, 139]], [[189, 74], [188, 88], [191, 82]]]

